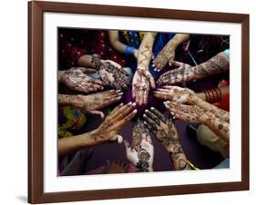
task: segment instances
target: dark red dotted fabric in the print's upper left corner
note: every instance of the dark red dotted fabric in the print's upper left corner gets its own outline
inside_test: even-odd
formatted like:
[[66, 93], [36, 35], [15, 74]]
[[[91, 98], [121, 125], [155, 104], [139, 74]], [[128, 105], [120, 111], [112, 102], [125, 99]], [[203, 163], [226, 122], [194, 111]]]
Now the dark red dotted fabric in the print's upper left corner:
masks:
[[60, 68], [77, 66], [78, 59], [84, 54], [100, 54], [102, 59], [126, 66], [124, 56], [111, 47], [107, 31], [60, 28], [58, 54]]

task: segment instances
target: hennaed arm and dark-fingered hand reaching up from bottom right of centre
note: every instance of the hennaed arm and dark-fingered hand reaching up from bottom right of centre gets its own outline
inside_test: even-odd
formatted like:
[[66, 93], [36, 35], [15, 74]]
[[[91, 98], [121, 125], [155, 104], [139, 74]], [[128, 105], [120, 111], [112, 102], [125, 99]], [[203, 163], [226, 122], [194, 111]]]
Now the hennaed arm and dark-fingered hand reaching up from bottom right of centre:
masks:
[[179, 135], [174, 123], [171, 122], [171, 120], [167, 120], [162, 113], [152, 107], [150, 111], [146, 110], [143, 118], [148, 130], [156, 133], [159, 142], [169, 151], [169, 156], [171, 161], [173, 161], [175, 170], [190, 170], [186, 155], [179, 142]]

